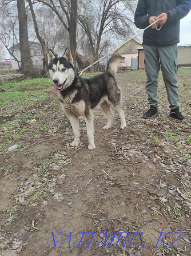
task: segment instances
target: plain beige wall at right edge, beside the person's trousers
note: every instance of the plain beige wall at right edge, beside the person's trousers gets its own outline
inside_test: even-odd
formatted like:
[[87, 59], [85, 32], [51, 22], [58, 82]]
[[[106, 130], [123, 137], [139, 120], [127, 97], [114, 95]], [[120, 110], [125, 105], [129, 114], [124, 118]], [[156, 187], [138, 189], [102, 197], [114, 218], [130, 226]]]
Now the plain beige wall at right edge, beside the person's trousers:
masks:
[[191, 66], [191, 46], [178, 47], [178, 66]]

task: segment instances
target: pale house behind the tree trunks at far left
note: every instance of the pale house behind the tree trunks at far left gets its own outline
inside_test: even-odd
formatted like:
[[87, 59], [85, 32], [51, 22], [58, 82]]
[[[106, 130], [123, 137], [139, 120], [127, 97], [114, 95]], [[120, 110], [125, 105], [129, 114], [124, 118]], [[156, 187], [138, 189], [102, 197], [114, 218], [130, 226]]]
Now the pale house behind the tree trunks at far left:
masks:
[[[34, 69], [37, 69], [37, 70], [43, 69], [43, 62], [42, 62], [43, 54], [42, 54], [41, 45], [38, 42], [29, 41], [29, 48], [30, 48], [30, 54], [33, 61]], [[21, 61], [21, 52], [20, 52], [19, 43], [16, 45], [13, 45], [11, 48], [9, 48], [9, 50], [11, 53], [14, 54], [14, 56], [18, 59], [18, 61]], [[17, 61], [11, 60], [11, 65], [13, 69], [18, 69]]]

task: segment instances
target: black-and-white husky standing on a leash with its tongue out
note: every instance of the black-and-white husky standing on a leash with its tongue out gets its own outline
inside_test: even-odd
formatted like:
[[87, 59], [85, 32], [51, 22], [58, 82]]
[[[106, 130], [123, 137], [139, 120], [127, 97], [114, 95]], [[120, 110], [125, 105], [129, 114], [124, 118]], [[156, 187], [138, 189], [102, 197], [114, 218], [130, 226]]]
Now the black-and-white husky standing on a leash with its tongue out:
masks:
[[48, 61], [53, 91], [57, 92], [63, 112], [69, 117], [73, 128], [74, 141], [71, 143], [73, 147], [79, 145], [78, 116], [82, 116], [86, 122], [88, 148], [95, 148], [92, 109], [98, 104], [108, 117], [108, 123], [103, 129], [109, 129], [112, 126], [113, 113], [110, 107], [120, 115], [121, 129], [126, 128], [125, 115], [121, 108], [121, 90], [115, 79], [118, 64], [123, 62], [121, 56], [111, 57], [106, 72], [88, 79], [80, 77], [75, 70], [69, 49], [65, 50], [63, 57], [56, 57], [49, 50]]

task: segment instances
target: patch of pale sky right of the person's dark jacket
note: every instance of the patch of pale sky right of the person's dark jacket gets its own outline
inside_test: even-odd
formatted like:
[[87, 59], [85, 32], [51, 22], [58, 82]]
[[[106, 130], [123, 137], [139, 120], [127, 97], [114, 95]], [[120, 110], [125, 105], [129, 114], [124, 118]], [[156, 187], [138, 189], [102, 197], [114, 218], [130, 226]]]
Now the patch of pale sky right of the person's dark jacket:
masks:
[[180, 44], [191, 45], [191, 11], [180, 21]]

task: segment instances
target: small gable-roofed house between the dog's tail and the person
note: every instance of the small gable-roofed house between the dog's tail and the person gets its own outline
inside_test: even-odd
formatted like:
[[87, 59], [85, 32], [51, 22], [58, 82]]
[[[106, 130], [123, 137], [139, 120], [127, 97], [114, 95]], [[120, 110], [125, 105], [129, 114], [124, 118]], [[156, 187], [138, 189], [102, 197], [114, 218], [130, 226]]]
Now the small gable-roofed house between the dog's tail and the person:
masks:
[[131, 39], [126, 44], [122, 45], [114, 54], [120, 54], [125, 58], [125, 62], [121, 63], [121, 66], [127, 69], [137, 69], [138, 65], [138, 52], [137, 48], [141, 48], [142, 45], [136, 40]]

